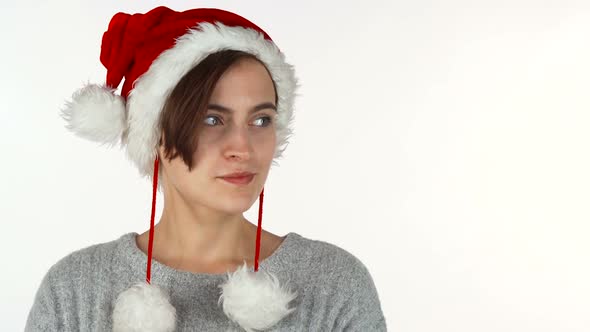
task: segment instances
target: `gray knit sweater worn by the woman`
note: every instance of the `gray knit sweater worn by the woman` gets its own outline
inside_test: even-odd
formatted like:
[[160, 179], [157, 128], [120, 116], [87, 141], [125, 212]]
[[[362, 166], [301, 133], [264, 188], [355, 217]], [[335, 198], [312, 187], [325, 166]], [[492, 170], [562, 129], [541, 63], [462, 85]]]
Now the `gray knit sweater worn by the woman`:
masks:
[[[75, 251], [41, 281], [25, 331], [111, 331], [117, 295], [145, 280], [147, 255], [137, 233]], [[367, 268], [333, 244], [288, 233], [259, 263], [297, 291], [296, 310], [267, 331], [386, 331]], [[241, 331], [217, 304], [226, 274], [175, 270], [152, 260], [152, 283], [164, 287], [177, 312], [177, 331]]]

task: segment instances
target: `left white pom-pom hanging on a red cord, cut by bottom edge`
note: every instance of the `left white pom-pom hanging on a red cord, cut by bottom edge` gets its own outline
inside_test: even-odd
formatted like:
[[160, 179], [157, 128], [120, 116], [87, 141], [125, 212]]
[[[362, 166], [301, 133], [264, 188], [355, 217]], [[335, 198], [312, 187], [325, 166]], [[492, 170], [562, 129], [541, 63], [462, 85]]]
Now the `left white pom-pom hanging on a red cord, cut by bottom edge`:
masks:
[[114, 332], [172, 332], [175, 327], [176, 309], [160, 287], [142, 282], [117, 297]]

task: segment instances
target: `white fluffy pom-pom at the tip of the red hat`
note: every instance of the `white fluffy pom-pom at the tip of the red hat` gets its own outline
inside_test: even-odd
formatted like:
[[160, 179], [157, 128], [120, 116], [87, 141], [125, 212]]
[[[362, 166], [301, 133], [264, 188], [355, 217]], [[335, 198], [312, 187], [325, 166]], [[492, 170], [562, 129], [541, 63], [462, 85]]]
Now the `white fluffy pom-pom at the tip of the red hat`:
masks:
[[66, 128], [85, 139], [115, 145], [126, 127], [125, 102], [115, 89], [88, 84], [66, 102], [62, 118]]

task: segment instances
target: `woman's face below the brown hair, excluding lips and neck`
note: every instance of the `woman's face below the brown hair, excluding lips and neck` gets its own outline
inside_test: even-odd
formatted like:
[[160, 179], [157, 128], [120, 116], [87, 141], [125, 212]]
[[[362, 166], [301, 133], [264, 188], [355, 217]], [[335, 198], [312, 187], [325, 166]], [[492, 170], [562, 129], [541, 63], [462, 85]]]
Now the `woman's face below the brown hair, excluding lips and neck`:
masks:
[[[272, 163], [276, 115], [275, 90], [266, 68], [253, 59], [233, 64], [209, 100], [193, 170], [189, 172], [180, 157], [171, 162], [161, 159], [166, 190], [177, 191], [191, 206], [205, 205], [228, 215], [247, 211], [258, 198]], [[238, 171], [255, 173], [253, 180], [236, 185], [221, 178]]]

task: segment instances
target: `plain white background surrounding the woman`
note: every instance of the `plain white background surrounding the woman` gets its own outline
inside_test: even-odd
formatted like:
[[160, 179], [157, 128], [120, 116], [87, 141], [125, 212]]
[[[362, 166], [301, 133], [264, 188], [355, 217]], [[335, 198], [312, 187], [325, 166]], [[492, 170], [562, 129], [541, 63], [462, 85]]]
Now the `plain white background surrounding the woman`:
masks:
[[149, 228], [151, 183], [58, 113], [104, 82], [112, 15], [160, 4], [234, 11], [295, 65], [263, 226], [358, 257], [389, 330], [590, 331], [590, 3], [564, 0], [3, 0], [3, 331], [57, 260]]

